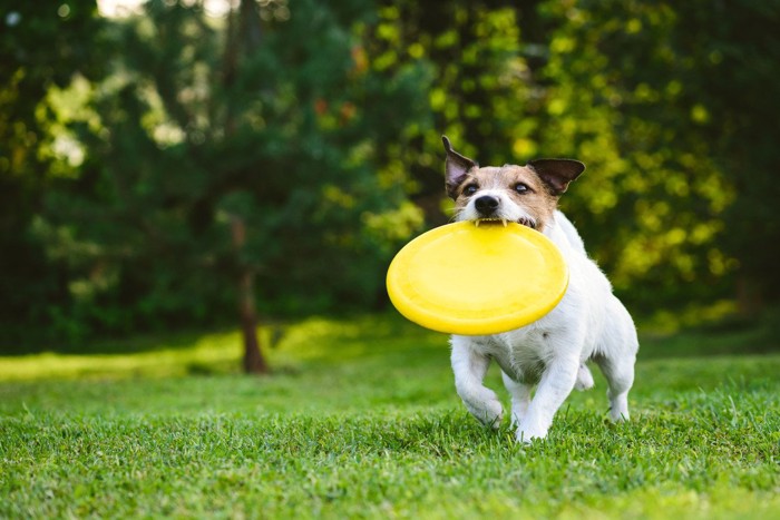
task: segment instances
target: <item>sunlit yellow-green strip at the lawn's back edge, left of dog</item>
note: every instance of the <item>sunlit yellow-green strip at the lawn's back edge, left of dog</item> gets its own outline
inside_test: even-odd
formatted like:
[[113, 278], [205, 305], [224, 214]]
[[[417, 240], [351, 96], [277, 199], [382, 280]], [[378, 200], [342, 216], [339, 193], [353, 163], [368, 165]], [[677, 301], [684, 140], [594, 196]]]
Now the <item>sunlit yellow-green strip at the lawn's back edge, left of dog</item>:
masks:
[[[201, 336], [143, 337], [90, 344], [88, 354], [43, 352], [0, 356], [0, 381], [51, 379], [164, 377], [186, 374], [231, 374], [241, 367], [242, 339], [237, 331]], [[397, 316], [350, 320], [313, 317], [289, 326], [259, 330], [264, 355], [282, 372], [312, 360], [348, 361], [423, 349], [447, 350], [447, 337], [423, 331]], [[368, 339], [368, 340], [367, 340]], [[138, 341], [137, 340], [137, 341]]]

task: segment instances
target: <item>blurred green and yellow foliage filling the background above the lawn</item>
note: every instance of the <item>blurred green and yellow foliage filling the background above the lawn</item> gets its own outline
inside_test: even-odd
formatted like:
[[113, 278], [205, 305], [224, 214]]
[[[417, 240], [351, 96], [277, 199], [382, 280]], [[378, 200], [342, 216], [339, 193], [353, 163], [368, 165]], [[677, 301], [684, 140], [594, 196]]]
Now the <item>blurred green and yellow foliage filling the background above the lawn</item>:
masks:
[[632, 310], [780, 296], [776, 0], [238, 3], [9, 4], [10, 342], [224, 323], [247, 272], [265, 314], [381, 306], [449, 218], [441, 134], [584, 160], [562, 205]]

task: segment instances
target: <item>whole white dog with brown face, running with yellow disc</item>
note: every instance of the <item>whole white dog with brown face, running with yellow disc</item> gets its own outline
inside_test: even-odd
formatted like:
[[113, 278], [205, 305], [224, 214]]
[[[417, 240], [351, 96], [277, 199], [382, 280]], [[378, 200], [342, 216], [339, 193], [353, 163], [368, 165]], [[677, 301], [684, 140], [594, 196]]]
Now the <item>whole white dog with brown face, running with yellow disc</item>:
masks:
[[[476, 225], [515, 222], [543, 233], [563, 254], [569, 283], [560, 302], [538, 321], [501, 334], [452, 335], [452, 372], [469, 412], [498, 428], [504, 410], [482, 381], [491, 360], [501, 369], [511, 398], [511, 423], [521, 443], [544, 439], [572, 390], [593, 387], [586, 365], [595, 362], [607, 381], [610, 416], [628, 419], [628, 391], [638, 351], [636, 327], [574, 225], [557, 209], [569, 183], [585, 170], [572, 159], [537, 159], [526, 166], [479, 165], [452, 149], [442, 136], [447, 195], [455, 220]], [[523, 276], [518, 265], [517, 276]], [[536, 392], [532, 399], [534, 386]]]

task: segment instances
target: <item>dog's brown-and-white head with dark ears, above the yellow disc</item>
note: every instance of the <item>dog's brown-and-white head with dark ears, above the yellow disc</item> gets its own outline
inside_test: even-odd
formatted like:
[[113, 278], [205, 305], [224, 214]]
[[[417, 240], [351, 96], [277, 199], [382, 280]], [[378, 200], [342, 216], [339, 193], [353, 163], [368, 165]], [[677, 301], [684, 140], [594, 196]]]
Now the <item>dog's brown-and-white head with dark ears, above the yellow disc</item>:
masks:
[[447, 150], [447, 195], [455, 200], [456, 220], [516, 222], [539, 232], [553, 218], [558, 198], [579, 177], [585, 165], [572, 159], [537, 159], [526, 166], [479, 165]]

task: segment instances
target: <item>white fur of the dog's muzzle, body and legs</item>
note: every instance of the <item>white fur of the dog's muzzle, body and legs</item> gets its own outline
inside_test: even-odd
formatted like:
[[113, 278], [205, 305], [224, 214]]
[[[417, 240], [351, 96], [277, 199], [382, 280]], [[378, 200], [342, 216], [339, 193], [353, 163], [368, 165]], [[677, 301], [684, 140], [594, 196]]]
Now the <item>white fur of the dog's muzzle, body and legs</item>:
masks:
[[[471, 195], [456, 219], [478, 220], [480, 214], [475, 200], [482, 195], [500, 200], [499, 218], [514, 222], [533, 218], [532, 212], [524, 209], [516, 197], [496, 185]], [[606, 377], [611, 419], [627, 420], [627, 395], [638, 349], [631, 315], [612, 294], [606, 276], [588, 258], [574, 225], [556, 209], [542, 229], [568, 264], [569, 284], [560, 303], [525, 327], [488, 336], [454, 335], [450, 341], [458, 395], [471, 414], [494, 426], [501, 421], [503, 408], [482, 381], [490, 361], [498, 363], [504, 385], [511, 395], [511, 421], [520, 442], [545, 438], [553, 416], [572, 390], [593, 386], [585, 365], [588, 360]], [[534, 385], [538, 386], [532, 399]]]

